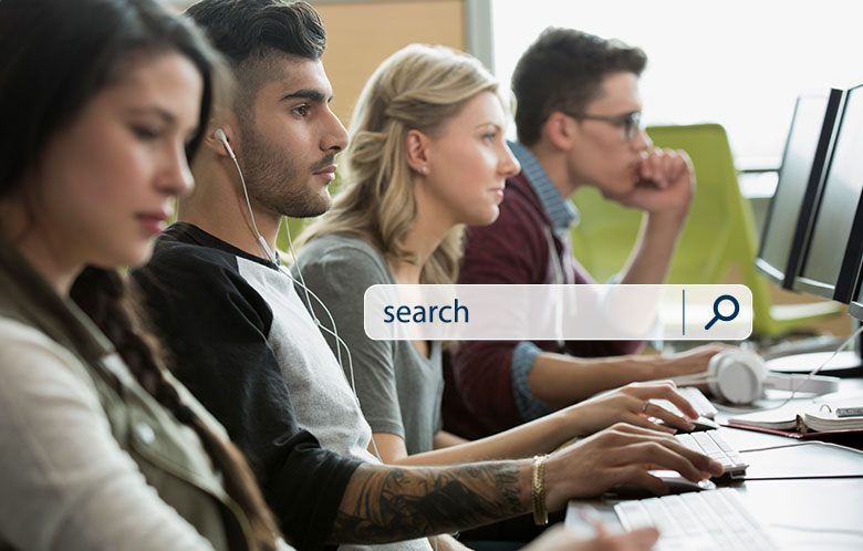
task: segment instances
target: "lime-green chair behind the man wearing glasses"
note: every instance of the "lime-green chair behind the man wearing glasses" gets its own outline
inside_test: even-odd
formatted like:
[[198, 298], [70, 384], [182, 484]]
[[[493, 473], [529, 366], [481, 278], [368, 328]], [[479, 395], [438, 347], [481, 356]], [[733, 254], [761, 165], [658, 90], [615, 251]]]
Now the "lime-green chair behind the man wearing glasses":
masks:
[[[728, 136], [718, 124], [653, 126], [658, 147], [684, 149], [695, 166], [697, 189], [672, 260], [668, 283], [722, 283], [737, 267], [752, 291], [753, 334], [778, 337], [844, 312], [842, 304], [771, 304], [767, 280], [753, 267], [758, 239], [750, 206], [740, 195]], [[641, 227], [642, 212], [627, 209], [584, 187], [573, 197], [581, 221], [573, 229], [575, 257], [599, 281], [626, 262]]]

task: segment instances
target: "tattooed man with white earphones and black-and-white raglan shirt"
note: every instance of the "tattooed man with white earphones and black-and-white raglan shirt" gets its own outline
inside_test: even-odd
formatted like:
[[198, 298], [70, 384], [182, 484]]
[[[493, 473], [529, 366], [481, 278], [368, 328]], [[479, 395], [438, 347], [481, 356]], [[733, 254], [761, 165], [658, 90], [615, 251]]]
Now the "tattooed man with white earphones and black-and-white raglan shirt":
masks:
[[178, 378], [247, 454], [292, 543], [408, 540], [393, 548], [428, 550], [410, 538], [559, 509], [622, 481], [662, 491], [647, 465], [693, 479], [721, 472], [673, 438], [631, 426], [547, 462], [381, 465], [342, 367], [272, 252], [282, 216], [329, 207], [334, 159], [347, 144], [329, 107], [321, 19], [281, 0], [204, 0], [188, 13], [231, 62], [238, 90], [208, 129], [179, 221], [134, 276]]

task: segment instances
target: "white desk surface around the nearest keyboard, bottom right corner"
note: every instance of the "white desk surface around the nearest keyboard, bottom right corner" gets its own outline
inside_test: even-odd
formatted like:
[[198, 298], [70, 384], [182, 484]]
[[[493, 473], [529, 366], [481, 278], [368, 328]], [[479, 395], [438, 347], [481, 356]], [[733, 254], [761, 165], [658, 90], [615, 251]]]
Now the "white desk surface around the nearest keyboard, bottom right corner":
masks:
[[[860, 385], [849, 383], [849, 387]], [[780, 549], [863, 549], [863, 453], [751, 430], [722, 427], [720, 432], [750, 465], [747, 480], [728, 486], [738, 491]], [[791, 478], [803, 476], [822, 478]], [[566, 524], [591, 534], [592, 528], [575, 511], [579, 505], [590, 503], [610, 528], [620, 529], [611, 509], [614, 502], [570, 501]]]

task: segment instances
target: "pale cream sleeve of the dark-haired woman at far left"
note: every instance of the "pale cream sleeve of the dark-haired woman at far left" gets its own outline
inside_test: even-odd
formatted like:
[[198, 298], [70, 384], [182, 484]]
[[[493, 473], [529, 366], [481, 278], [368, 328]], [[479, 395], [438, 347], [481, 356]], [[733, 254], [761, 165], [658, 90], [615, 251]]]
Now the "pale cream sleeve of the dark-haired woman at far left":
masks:
[[117, 445], [65, 349], [0, 321], [0, 540], [45, 551], [212, 550]]

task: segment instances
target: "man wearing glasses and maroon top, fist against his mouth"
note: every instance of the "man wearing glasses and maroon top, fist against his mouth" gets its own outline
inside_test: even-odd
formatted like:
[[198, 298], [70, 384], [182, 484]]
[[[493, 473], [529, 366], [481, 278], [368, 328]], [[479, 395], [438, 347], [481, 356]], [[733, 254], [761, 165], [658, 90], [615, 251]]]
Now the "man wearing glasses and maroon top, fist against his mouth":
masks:
[[[618, 282], [665, 280], [694, 174], [684, 152], [653, 148], [638, 124], [638, 77], [646, 61], [638, 48], [573, 29], [549, 28], [528, 48], [512, 76], [519, 141], [510, 146], [522, 171], [507, 180], [498, 220], [467, 230], [459, 283], [592, 283], [570, 247], [580, 215], [569, 197], [580, 186], [647, 215]], [[447, 373], [446, 428], [487, 436], [604, 389], [705, 371], [719, 350], [633, 355], [641, 346], [460, 343]]]

